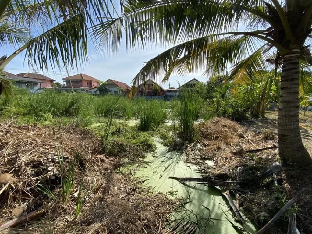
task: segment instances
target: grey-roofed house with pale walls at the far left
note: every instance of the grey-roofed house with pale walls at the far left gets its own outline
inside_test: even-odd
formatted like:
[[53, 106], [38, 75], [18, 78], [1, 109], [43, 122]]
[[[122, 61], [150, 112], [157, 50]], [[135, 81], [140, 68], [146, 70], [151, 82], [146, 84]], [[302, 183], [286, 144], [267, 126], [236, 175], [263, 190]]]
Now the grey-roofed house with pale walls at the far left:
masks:
[[27, 77], [20, 77], [17, 75], [14, 75], [12, 73], [3, 71], [4, 75], [7, 77], [7, 79], [12, 81], [12, 84], [20, 89], [26, 89], [28, 92], [31, 93], [37, 93], [40, 90], [41, 86], [44, 86], [47, 84], [47, 82], [42, 80], [37, 80], [33, 78], [27, 78]]

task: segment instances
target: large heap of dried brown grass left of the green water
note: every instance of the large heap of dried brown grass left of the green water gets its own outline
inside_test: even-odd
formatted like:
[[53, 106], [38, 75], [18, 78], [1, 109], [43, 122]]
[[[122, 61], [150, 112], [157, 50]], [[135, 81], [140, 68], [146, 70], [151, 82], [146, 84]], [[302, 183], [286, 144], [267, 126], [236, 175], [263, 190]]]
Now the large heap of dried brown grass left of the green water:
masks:
[[[46, 210], [39, 220], [3, 233], [163, 233], [162, 224], [174, 201], [163, 194], [152, 194], [149, 188], [140, 186], [140, 181], [114, 172], [124, 159], [129, 161], [125, 151], [137, 149], [119, 146], [123, 154], [112, 157], [102, 154], [101, 140], [90, 131], [67, 127], [57, 129], [55, 135], [56, 140], [51, 127], [0, 124], [0, 173], [3, 178], [12, 174], [12, 181], [8, 181], [10, 184], [0, 197], [0, 225], [16, 215], [41, 207]], [[68, 202], [61, 199], [57, 144], [63, 146], [65, 167], [76, 152], [81, 156]], [[142, 154], [138, 153], [138, 157]], [[132, 153], [130, 160], [135, 160]], [[94, 177], [96, 184], [75, 218], [75, 192], [83, 177], [83, 193], [90, 188]], [[39, 183], [49, 188], [55, 198], [42, 193]]]

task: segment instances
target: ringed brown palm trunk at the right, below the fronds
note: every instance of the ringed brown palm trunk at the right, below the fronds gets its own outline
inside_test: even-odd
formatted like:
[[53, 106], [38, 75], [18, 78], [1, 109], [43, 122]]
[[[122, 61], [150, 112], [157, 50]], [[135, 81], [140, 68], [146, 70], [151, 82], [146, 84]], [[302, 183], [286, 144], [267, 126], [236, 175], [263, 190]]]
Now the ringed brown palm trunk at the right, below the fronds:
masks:
[[280, 157], [298, 165], [310, 165], [312, 159], [302, 144], [299, 128], [299, 49], [284, 56], [278, 111]]

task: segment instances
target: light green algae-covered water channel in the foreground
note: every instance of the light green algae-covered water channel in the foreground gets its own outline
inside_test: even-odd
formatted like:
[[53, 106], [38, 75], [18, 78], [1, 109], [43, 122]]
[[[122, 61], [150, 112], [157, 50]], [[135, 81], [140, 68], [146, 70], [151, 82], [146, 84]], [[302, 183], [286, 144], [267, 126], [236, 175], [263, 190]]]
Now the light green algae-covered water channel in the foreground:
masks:
[[[169, 179], [170, 176], [200, 178], [201, 175], [197, 172], [196, 166], [184, 163], [181, 154], [176, 151], [167, 152], [168, 147], [160, 144], [159, 139], [155, 139], [155, 142], [156, 154], [147, 156], [145, 159], [148, 162], [147, 165], [139, 168], [135, 176], [146, 180], [144, 185], [152, 186], [156, 191], [167, 194], [169, 192], [178, 197], [188, 198], [191, 202], [184, 207], [189, 211], [183, 216], [188, 216], [193, 221], [196, 219], [194, 213], [198, 217], [211, 218], [211, 222], [204, 222], [206, 227], [202, 227], [203, 233], [238, 233], [227, 218], [236, 226], [241, 227], [241, 225], [232, 218], [232, 213], [228, 211], [229, 206], [221, 196], [220, 190], [196, 182], [188, 182], [185, 185]], [[255, 232], [251, 224], [247, 224], [245, 229], [251, 233]]]

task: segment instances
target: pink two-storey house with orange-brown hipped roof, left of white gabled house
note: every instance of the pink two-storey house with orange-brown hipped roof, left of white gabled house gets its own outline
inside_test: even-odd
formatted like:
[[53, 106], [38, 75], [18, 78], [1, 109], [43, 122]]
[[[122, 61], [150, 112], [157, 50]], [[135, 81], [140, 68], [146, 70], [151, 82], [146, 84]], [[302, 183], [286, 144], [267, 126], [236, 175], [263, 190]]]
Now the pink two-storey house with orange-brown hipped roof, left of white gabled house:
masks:
[[57, 90], [70, 91], [72, 90], [71, 85], [76, 92], [85, 92], [88, 89], [94, 88], [100, 85], [100, 81], [92, 76], [85, 74], [77, 74], [69, 77], [65, 77], [62, 80], [66, 82], [65, 87], [58, 87]]

